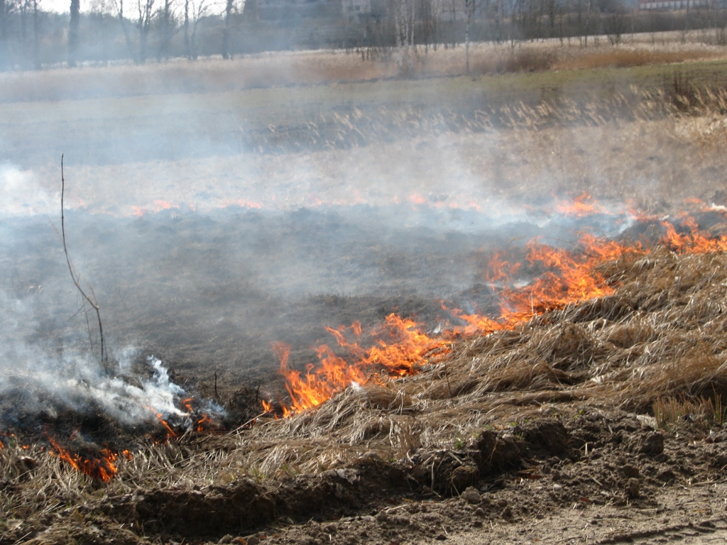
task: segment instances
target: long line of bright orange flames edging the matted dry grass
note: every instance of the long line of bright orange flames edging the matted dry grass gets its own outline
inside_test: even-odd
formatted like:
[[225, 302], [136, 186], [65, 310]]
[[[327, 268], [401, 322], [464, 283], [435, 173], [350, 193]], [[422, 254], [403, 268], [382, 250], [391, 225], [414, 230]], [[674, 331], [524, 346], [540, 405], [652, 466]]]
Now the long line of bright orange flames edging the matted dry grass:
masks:
[[[411, 195], [409, 201], [417, 203], [420, 195]], [[702, 210], [707, 210], [699, 201]], [[582, 193], [573, 201], [558, 202], [557, 210], [566, 216], [587, 217], [603, 214], [605, 209]], [[714, 211], [712, 207], [709, 210]], [[725, 211], [723, 215], [727, 216]], [[646, 214], [633, 214], [636, 222], [657, 222]], [[725, 235], [712, 236], [699, 229], [694, 217], [682, 214], [680, 230], [675, 223], [662, 220], [664, 236], [660, 241], [672, 251], [703, 253], [727, 250]], [[562, 309], [588, 299], [614, 293], [614, 286], [595, 272], [598, 265], [619, 259], [627, 254], [646, 254], [642, 243], [626, 244], [591, 234], [579, 237], [573, 249], [558, 248], [534, 239], [526, 245], [524, 257], [518, 259], [500, 252], [489, 262], [484, 277], [499, 297], [499, 315], [491, 317], [465, 314], [462, 310], [450, 310], [454, 317], [466, 326], [454, 326], [443, 334], [430, 336], [424, 326], [410, 318], [388, 315], [385, 323], [367, 334], [366, 346], [361, 338], [360, 323], [350, 327], [326, 328], [336, 340], [345, 358], [337, 355], [327, 344], [317, 348], [318, 365], [309, 363], [305, 373], [289, 368], [290, 347], [283, 343], [273, 344], [273, 350], [281, 362], [280, 373], [286, 378], [286, 389], [291, 398], [289, 406], [283, 405], [283, 416], [305, 411], [324, 403], [336, 392], [358, 384], [382, 382], [383, 376], [397, 377], [414, 374], [428, 361], [435, 360], [451, 350], [451, 342], [459, 335], [486, 335], [503, 329], [513, 329], [536, 315]], [[518, 286], [518, 275], [534, 278], [525, 286]], [[443, 307], [446, 310], [446, 307]], [[353, 337], [353, 339], [351, 339]], [[272, 412], [271, 403], [263, 402], [266, 412]]]

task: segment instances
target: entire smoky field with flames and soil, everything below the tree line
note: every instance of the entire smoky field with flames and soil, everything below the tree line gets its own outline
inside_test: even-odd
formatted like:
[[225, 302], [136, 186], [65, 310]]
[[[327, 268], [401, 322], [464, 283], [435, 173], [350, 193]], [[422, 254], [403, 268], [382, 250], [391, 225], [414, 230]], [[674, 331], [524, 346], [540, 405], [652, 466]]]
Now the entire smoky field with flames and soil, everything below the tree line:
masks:
[[725, 538], [679, 37], [0, 74], [0, 544]]

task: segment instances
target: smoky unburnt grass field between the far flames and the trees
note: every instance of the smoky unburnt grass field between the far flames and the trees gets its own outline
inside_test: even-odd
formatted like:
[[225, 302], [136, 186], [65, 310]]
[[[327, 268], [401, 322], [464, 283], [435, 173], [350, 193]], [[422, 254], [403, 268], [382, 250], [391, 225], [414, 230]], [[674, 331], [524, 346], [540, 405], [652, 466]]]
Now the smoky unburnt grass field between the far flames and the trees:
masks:
[[[654, 201], [649, 188], [662, 185], [660, 199], [712, 198], [723, 190], [720, 105], [693, 91], [723, 88], [727, 60], [667, 38], [479, 45], [473, 66], [502, 57], [542, 69], [473, 76], [447, 75], [461, 74], [462, 48], [420, 52], [431, 70], [416, 78], [393, 77], [393, 59], [345, 52], [4, 74], [0, 161], [52, 194], [65, 153], [71, 198], [121, 214], [157, 201], [385, 203], [453, 193], [452, 180], [481, 204], [624, 187]], [[689, 189], [695, 169], [709, 182]]]

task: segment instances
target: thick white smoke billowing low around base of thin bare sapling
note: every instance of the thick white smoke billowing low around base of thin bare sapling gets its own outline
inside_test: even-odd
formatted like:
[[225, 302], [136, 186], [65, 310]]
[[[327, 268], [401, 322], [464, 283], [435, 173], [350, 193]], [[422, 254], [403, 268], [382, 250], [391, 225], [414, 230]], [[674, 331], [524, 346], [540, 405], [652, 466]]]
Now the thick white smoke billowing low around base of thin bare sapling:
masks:
[[[16, 311], [22, 306], [17, 305]], [[187, 392], [172, 382], [158, 358], [149, 356], [140, 366], [139, 351], [126, 348], [116, 351], [116, 363], [106, 366], [75, 348], [43, 350], [40, 343], [10, 342], [5, 331], [0, 345], [0, 421], [4, 424], [22, 427], [34, 420], [33, 414], [52, 421], [63, 411], [100, 412], [121, 427], [153, 424], [157, 415], [183, 423], [188, 416], [180, 409]], [[209, 401], [204, 410], [216, 416], [224, 413]], [[28, 415], [30, 421], [23, 421]]]

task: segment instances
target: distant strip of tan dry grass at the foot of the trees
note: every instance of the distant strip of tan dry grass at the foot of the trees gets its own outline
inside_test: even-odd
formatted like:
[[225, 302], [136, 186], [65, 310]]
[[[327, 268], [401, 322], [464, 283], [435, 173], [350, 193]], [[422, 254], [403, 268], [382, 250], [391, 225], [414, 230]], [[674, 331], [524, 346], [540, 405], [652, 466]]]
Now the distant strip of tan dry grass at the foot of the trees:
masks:
[[[471, 74], [625, 68], [727, 58], [723, 48], [689, 41], [681, 44], [676, 36], [664, 37], [659, 45], [642, 38], [616, 47], [585, 48], [577, 41], [558, 40], [523, 42], [515, 47], [471, 44]], [[401, 76], [396, 57], [392, 52], [368, 56], [342, 50], [270, 52], [244, 55], [231, 61], [177, 59], [142, 66], [127, 63], [1, 73], [0, 102], [229, 92], [292, 84], [372, 81]], [[406, 66], [407, 77], [461, 76], [465, 74], [465, 47], [412, 48]]]

